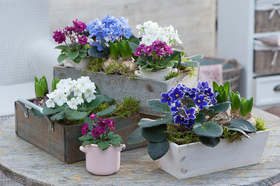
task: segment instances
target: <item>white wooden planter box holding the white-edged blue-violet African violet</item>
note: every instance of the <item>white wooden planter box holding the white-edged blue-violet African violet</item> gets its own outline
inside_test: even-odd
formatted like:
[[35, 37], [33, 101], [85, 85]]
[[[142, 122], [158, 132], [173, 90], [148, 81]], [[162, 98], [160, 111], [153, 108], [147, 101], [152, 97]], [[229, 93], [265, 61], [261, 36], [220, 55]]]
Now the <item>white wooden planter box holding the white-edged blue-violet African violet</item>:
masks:
[[270, 130], [242, 137], [242, 142], [229, 144], [221, 139], [216, 147], [208, 147], [200, 142], [177, 145], [170, 143], [168, 152], [158, 165], [178, 179], [205, 175], [218, 171], [260, 163]]

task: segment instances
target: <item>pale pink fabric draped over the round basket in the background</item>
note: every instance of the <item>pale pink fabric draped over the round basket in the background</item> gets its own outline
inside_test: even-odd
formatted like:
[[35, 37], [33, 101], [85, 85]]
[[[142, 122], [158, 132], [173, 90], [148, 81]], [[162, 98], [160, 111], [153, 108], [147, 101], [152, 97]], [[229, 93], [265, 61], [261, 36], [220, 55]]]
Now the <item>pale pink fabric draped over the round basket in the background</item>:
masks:
[[215, 80], [218, 85], [223, 84], [222, 64], [201, 65], [199, 81], [208, 81], [213, 91], [213, 80]]

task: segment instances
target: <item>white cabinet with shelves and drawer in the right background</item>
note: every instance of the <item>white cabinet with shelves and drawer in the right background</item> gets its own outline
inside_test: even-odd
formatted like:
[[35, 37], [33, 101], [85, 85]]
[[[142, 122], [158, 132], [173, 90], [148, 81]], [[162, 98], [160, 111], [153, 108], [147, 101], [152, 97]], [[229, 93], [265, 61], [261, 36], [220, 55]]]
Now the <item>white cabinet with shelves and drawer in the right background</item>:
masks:
[[[274, 2], [280, 4], [280, 0]], [[242, 97], [249, 99], [255, 95], [255, 106], [276, 104], [280, 103], [279, 96], [276, 97], [280, 92], [274, 91], [274, 87], [280, 85], [280, 77], [275, 75], [280, 71], [274, 74], [253, 72], [254, 40], [280, 32], [255, 33], [255, 8], [255, 0], [218, 0], [218, 57], [235, 58], [244, 67], [238, 87]], [[275, 14], [279, 16], [277, 11]], [[268, 98], [263, 98], [265, 96]]]

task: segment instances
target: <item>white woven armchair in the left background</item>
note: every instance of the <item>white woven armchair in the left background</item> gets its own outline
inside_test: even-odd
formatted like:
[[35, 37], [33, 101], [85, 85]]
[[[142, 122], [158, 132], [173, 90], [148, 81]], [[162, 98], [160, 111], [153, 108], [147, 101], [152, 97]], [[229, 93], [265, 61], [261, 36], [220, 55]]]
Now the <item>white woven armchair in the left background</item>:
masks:
[[53, 77], [59, 50], [51, 38], [48, 0], [0, 0], [0, 123], [14, 115], [14, 101], [33, 98], [34, 76]]

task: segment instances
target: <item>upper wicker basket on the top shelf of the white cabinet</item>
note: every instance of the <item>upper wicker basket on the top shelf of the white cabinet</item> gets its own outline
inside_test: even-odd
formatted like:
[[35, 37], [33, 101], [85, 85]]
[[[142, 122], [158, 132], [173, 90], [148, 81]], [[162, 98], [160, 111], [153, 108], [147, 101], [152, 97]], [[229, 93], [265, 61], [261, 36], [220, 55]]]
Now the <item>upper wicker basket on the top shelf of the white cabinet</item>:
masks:
[[255, 11], [255, 33], [280, 31], [280, 16], [276, 12], [269, 20], [271, 10]]

